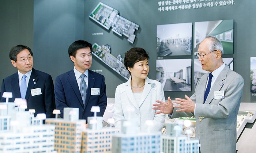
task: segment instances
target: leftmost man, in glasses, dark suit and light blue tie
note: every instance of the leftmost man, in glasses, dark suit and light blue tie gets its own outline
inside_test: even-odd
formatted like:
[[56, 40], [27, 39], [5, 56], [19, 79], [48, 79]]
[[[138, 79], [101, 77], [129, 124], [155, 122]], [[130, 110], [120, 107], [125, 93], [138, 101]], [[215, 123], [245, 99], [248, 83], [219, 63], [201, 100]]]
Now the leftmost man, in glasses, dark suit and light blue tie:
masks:
[[15, 98], [27, 100], [27, 109], [34, 109], [35, 116], [45, 113], [46, 118], [53, 118], [55, 107], [54, 85], [52, 77], [33, 68], [33, 52], [25, 45], [17, 45], [11, 48], [9, 53], [12, 65], [18, 72], [6, 77], [1, 84], [1, 102], [4, 92], [12, 92], [9, 102]]

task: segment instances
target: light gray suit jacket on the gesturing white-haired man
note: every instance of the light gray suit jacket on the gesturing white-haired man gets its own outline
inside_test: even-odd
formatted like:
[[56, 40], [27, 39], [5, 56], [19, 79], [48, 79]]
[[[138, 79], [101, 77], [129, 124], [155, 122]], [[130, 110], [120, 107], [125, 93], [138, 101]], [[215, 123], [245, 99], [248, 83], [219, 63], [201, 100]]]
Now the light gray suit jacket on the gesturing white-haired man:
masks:
[[[237, 113], [241, 102], [244, 79], [226, 65], [212, 85], [204, 101], [208, 79], [204, 74], [190, 97], [196, 102], [196, 137], [199, 138], [201, 153], [235, 153]], [[214, 91], [224, 91], [224, 99], [214, 99]], [[192, 113], [176, 112], [172, 118], [192, 116]]]

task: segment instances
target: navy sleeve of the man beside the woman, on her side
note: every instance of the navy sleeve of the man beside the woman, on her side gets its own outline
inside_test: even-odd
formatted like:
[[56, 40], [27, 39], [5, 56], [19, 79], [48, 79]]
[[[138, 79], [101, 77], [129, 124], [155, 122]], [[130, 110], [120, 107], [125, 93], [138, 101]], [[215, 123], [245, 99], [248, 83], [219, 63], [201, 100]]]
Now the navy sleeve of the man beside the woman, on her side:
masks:
[[99, 106], [99, 108], [100, 108], [100, 112], [97, 113], [97, 116], [103, 116], [103, 114], [106, 110], [106, 107], [107, 107], [107, 94], [106, 94], [106, 84], [105, 84], [104, 76], [102, 78], [99, 101], [98, 101], [97, 106]]

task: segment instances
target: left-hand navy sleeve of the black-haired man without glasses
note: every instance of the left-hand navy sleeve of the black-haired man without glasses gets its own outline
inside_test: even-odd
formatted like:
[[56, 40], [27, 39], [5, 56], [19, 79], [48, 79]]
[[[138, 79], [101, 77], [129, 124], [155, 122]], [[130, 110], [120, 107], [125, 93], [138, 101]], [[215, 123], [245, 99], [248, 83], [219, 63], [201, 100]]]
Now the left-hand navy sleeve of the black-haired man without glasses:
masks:
[[68, 106], [65, 98], [63, 84], [59, 76], [57, 76], [55, 80], [54, 93], [55, 93], [56, 109], [60, 110], [60, 117], [63, 118], [63, 109]]

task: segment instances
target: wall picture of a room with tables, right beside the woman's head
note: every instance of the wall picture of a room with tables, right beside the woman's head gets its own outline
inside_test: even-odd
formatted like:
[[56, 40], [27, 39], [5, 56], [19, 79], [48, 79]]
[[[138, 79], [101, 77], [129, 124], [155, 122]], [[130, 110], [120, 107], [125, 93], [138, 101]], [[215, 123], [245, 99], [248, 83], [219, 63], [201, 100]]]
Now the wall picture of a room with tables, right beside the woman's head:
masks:
[[163, 91], [191, 91], [191, 59], [157, 60]]

